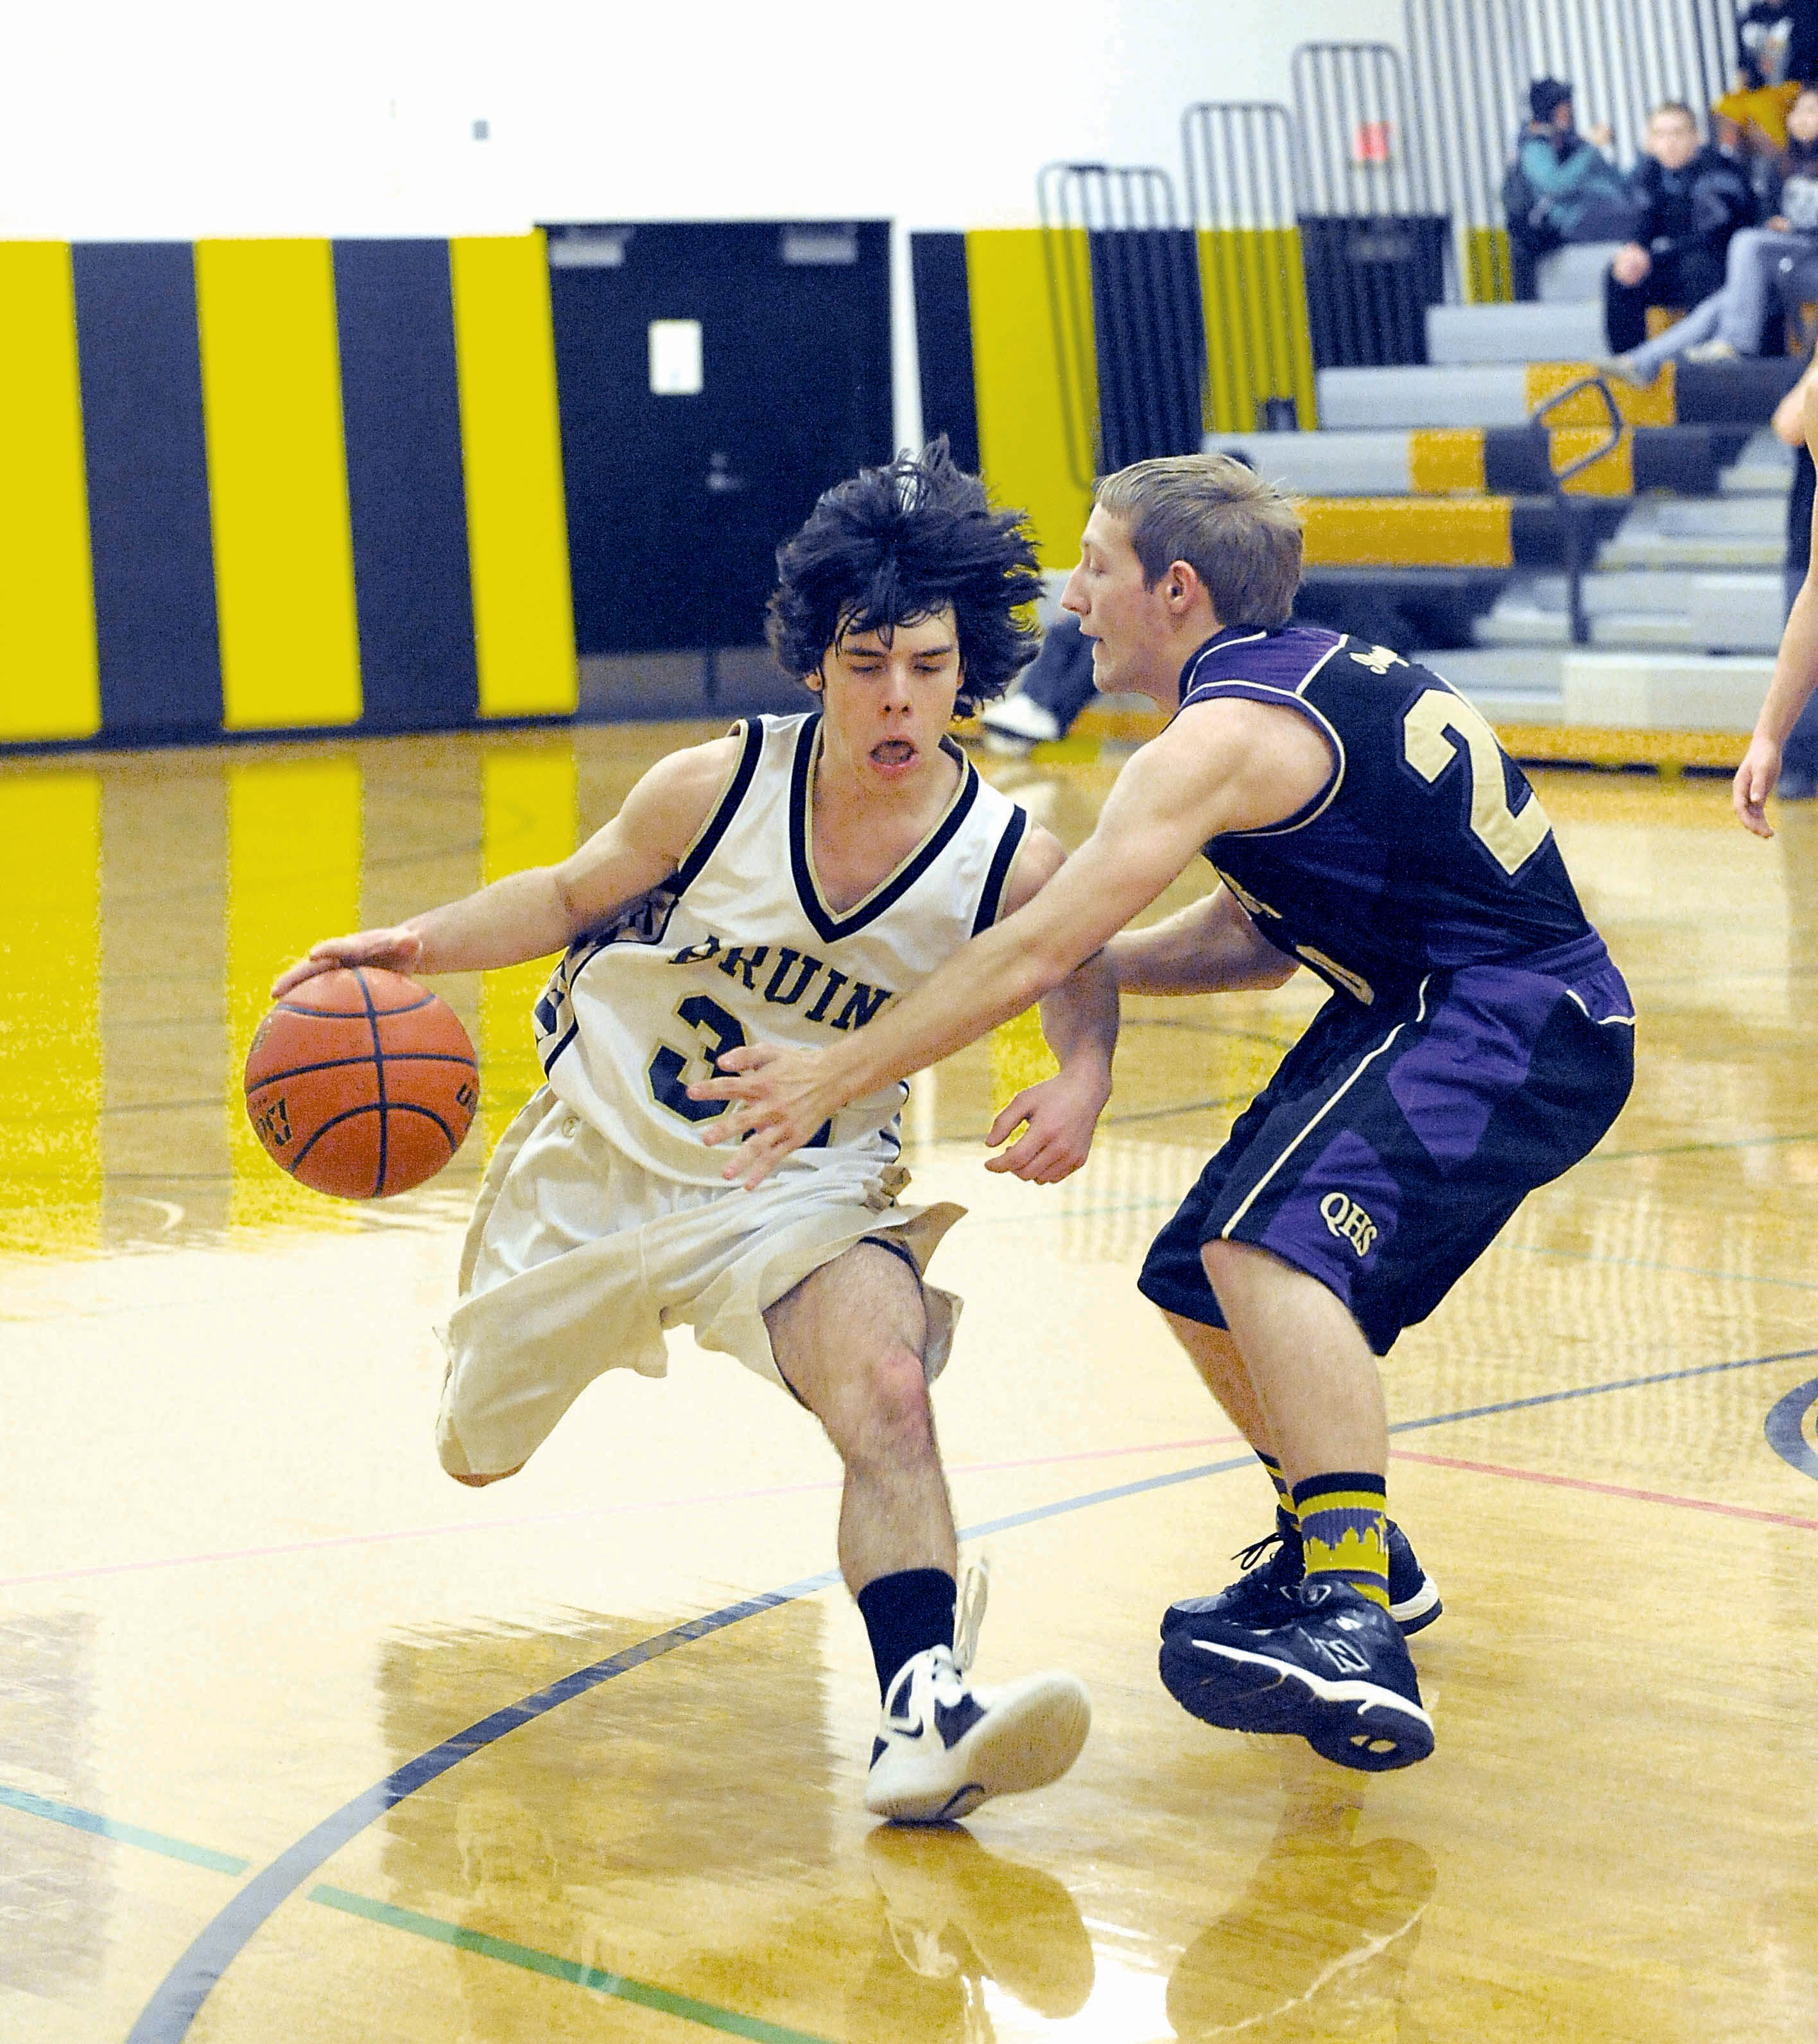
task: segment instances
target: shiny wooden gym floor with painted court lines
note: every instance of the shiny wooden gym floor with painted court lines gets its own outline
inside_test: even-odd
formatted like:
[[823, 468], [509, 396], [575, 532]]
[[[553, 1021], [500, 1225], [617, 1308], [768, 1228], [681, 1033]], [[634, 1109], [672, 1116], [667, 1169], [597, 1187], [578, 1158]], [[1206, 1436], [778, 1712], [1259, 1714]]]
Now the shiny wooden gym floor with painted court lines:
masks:
[[[8, 2044], [1818, 2034], [1818, 818], [1540, 777], [1642, 1010], [1636, 1098], [1387, 1365], [1440, 1746], [1352, 1776], [1155, 1680], [1268, 1490], [1135, 1290], [1315, 1006], [1139, 1002], [1092, 1163], [982, 1171], [1022, 1028], [914, 1089], [971, 1206], [937, 1402], [980, 1672], [1096, 1723], [965, 1831], [861, 1807], [875, 1690], [814, 1425], [677, 1337], [521, 1478], [429, 1445], [487, 1085], [382, 1208], [264, 1163], [237, 1065], [309, 938], [562, 852], [681, 728], [0, 769]], [[992, 766], [1070, 842], [1090, 746]], [[1198, 887], [1194, 877], [1182, 887]]]

